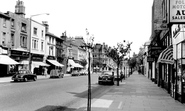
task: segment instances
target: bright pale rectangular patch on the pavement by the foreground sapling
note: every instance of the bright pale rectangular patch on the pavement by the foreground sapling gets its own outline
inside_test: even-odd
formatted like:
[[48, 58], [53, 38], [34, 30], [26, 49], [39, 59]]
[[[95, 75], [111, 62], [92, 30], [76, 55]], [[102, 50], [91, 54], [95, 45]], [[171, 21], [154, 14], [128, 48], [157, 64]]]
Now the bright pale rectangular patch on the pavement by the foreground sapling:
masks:
[[113, 100], [97, 99], [91, 106], [99, 108], [109, 108]]

